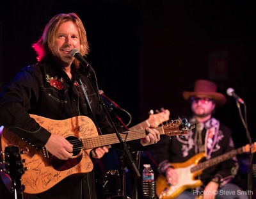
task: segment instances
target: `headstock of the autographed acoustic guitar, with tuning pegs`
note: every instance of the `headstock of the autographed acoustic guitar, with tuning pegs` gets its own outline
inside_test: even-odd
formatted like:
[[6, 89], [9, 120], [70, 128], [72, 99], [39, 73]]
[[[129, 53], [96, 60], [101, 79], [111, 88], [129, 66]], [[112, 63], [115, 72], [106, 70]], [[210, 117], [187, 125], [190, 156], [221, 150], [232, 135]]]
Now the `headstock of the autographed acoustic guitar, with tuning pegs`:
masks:
[[[183, 119], [178, 118], [177, 120], [172, 120], [170, 123], [163, 125], [163, 131], [166, 136], [182, 136], [188, 134], [188, 131], [195, 128], [195, 125], [190, 125], [190, 123], [184, 123]], [[188, 120], [186, 120], [188, 121]]]

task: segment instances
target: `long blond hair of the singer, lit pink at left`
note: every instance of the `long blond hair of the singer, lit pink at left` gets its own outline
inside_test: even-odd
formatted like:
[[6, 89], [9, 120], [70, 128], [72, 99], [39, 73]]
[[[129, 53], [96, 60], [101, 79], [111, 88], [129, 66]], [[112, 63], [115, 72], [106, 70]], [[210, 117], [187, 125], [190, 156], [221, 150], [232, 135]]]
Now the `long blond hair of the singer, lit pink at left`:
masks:
[[[52, 17], [51, 20], [46, 24], [44, 33], [39, 38], [38, 42], [32, 44], [37, 54], [37, 61], [47, 60], [49, 54], [53, 52], [54, 41], [57, 38], [58, 29], [61, 24], [67, 21], [72, 21], [77, 27], [79, 38], [80, 38], [80, 53], [82, 56], [86, 56], [89, 53], [89, 45], [86, 37], [86, 31], [84, 29], [83, 22], [77, 16], [76, 13], [60, 13]], [[78, 60], [74, 60], [76, 66], [79, 65]]]

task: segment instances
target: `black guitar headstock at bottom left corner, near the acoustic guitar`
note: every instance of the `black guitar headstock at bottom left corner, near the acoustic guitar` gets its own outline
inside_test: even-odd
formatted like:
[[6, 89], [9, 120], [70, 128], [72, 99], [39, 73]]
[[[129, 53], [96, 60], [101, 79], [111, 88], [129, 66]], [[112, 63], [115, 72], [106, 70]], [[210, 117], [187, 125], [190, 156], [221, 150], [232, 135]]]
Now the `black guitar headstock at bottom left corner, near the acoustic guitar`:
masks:
[[22, 193], [24, 186], [21, 184], [21, 176], [25, 169], [20, 157], [19, 147], [10, 145], [4, 148], [4, 172], [12, 179], [12, 189], [15, 189], [17, 193]]

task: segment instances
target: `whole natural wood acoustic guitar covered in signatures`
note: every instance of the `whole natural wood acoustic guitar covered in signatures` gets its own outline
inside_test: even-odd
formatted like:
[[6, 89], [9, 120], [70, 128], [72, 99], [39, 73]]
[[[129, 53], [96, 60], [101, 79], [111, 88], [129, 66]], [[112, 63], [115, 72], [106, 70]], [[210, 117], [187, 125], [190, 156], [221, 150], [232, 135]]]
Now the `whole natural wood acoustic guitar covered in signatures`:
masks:
[[[63, 136], [72, 143], [74, 155], [68, 160], [60, 160], [44, 147], [40, 151], [36, 151], [28, 143], [3, 127], [0, 131], [2, 150], [10, 144], [17, 145], [23, 150], [22, 159], [25, 160], [24, 166], [27, 170], [21, 180], [26, 187], [24, 190], [26, 194], [42, 193], [70, 175], [92, 171], [93, 163], [90, 159], [92, 148], [119, 143], [115, 133], [99, 136], [93, 121], [87, 116], [75, 116], [66, 120], [51, 120], [37, 115], [30, 116], [47, 131]], [[191, 128], [182, 125], [182, 120], [179, 118], [155, 129], [166, 136], [182, 136], [187, 134]], [[123, 141], [145, 138], [146, 135], [145, 129], [120, 133]]]

